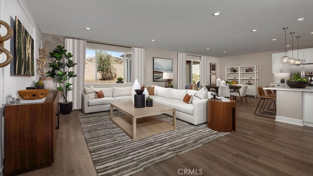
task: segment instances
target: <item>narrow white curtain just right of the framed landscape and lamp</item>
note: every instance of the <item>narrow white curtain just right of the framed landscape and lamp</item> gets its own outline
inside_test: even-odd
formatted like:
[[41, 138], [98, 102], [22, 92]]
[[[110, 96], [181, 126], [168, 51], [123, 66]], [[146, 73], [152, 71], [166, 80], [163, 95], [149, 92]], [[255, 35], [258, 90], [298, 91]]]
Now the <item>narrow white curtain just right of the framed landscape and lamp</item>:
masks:
[[178, 89], [186, 86], [186, 54], [178, 53]]

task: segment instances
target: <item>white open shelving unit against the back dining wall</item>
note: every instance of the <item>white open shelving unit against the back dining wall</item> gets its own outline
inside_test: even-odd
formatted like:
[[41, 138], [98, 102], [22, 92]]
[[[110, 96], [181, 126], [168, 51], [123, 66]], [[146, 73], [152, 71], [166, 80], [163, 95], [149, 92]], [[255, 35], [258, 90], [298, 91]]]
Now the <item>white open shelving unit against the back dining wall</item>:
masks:
[[225, 68], [225, 81], [236, 81], [240, 85], [248, 85], [247, 95], [256, 97], [256, 87], [259, 86], [258, 66], [229, 66]]

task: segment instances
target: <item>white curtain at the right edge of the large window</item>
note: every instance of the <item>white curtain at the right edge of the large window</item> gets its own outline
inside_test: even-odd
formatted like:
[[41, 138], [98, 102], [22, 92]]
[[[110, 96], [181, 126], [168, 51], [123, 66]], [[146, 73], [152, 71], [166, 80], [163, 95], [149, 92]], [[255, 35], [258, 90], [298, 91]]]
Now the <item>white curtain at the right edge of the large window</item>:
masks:
[[132, 83], [137, 79], [140, 86], [145, 84], [145, 49], [132, 47]]

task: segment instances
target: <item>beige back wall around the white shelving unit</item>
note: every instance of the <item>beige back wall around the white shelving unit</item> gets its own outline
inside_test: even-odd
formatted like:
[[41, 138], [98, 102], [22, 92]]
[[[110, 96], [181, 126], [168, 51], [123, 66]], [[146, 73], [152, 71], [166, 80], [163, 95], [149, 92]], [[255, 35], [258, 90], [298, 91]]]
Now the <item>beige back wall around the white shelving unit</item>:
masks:
[[259, 66], [259, 86], [266, 87], [273, 83], [272, 51], [229, 56], [220, 58], [221, 79], [225, 79], [226, 66]]

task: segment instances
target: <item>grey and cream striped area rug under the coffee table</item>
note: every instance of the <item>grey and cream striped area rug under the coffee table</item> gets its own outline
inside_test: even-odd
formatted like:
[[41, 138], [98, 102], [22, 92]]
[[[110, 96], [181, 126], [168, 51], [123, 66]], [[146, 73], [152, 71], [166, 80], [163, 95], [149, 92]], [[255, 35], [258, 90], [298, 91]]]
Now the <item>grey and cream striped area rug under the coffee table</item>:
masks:
[[[122, 113], [114, 110], [114, 115]], [[228, 132], [177, 119], [176, 130], [133, 141], [110, 120], [110, 111], [78, 117], [98, 176], [129, 176], [209, 143]], [[157, 118], [172, 124], [172, 117]]]

